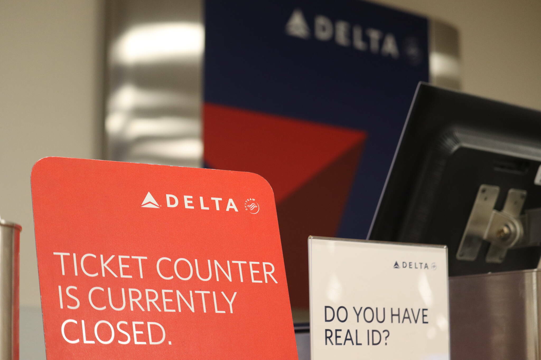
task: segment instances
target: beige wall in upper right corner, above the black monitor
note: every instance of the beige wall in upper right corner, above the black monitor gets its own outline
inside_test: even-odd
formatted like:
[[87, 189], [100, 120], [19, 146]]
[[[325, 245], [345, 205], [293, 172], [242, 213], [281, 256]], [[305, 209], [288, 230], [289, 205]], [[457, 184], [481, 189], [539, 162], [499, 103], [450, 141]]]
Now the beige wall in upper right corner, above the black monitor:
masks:
[[376, 2], [456, 26], [463, 91], [541, 110], [541, 1]]

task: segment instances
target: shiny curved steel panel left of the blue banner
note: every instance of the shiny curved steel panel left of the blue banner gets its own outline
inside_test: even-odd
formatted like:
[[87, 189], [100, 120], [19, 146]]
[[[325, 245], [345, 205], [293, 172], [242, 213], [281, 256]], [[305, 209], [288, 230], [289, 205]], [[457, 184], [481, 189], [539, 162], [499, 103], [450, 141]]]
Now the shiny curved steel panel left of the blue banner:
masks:
[[201, 0], [107, 1], [105, 159], [202, 166]]

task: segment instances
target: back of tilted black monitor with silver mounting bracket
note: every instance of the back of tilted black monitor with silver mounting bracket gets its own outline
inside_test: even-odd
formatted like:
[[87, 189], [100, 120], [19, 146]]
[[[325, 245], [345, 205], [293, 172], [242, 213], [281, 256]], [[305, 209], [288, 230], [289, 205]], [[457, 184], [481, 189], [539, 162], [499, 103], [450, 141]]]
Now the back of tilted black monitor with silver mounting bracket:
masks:
[[446, 244], [450, 275], [538, 266], [541, 112], [420, 83], [369, 239]]

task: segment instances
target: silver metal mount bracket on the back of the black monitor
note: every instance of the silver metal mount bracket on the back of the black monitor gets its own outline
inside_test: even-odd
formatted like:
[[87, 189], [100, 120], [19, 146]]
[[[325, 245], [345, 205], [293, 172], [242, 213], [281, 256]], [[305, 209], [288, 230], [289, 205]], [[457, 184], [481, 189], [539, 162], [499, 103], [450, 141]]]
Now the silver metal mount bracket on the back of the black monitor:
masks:
[[485, 257], [489, 263], [502, 263], [509, 249], [541, 246], [541, 208], [520, 215], [527, 192], [510, 189], [503, 209], [494, 210], [499, 192], [498, 186], [479, 187], [458, 248], [458, 260], [476, 260], [483, 241], [491, 243]]

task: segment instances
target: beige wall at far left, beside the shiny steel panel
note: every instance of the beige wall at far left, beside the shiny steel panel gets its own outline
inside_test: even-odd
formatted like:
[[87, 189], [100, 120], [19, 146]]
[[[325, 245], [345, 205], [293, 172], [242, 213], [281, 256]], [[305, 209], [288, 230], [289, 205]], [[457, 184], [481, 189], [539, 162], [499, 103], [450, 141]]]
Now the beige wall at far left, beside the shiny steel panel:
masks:
[[45, 156], [100, 154], [100, 9], [94, 0], [0, 0], [0, 215], [23, 226], [21, 359], [44, 358], [30, 170]]

